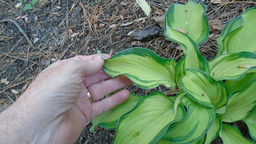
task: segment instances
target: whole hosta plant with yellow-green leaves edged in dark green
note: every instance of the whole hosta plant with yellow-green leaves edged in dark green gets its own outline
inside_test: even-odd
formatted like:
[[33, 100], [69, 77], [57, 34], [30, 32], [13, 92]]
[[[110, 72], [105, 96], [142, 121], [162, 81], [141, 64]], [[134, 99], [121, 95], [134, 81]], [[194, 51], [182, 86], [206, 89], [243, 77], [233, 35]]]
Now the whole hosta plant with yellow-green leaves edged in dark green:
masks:
[[[217, 39], [218, 54], [207, 61], [199, 44], [209, 35], [203, 3], [189, 0], [172, 4], [164, 20], [166, 39], [182, 47], [180, 61], [161, 58], [144, 48], [131, 48], [106, 59], [104, 71], [124, 75], [144, 89], [163, 84], [179, 91], [175, 97], [161, 92], [131, 96], [123, 104], [92, 120], [115, 129], [113, 143], [211, 143], [256, 140], [256, 8], [230, 20]], [[243, 121], [252, 140], [244, 138], [232, 122]], [[253, 141], [254, 140], [254, 141]]]

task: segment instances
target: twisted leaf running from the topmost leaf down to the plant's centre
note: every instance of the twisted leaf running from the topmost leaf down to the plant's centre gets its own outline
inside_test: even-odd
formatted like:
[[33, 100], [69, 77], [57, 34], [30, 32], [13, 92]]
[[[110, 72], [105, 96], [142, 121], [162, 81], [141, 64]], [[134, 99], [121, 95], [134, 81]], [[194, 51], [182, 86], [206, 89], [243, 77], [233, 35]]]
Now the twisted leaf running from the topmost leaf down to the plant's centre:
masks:
[[180, 87], [180, 79], [185, 75], [186, 68], [196, 68], [209, 73], [208, 61], [198, 51], [198, 44], [188, 35], [164, 25], [164, 35], [168, 40], [177, 42], [185, 52], [185, 56], [175, 67], [175, 81]]

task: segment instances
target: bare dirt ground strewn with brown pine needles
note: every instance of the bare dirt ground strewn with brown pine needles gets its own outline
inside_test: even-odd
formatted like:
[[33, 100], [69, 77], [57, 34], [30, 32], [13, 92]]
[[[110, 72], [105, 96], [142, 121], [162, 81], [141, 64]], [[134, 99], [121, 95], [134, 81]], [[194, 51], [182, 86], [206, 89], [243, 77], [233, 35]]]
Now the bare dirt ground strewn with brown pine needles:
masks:
[[[25, 0], [24, 3], [26, 2], [29, 1]], [[206, 15], [210, 20], [211, 31], [208, 40], [200, 46], [200, 52], [209, 60], [216, 55], [215, 39], [220, 35], [223, 26], [247, 8], [256, 6], [256, 2], [203, 2], [208, 8]], [[28, 44], [12, 22], [0, 23], [0, 112], [15, 102], [38, 73], [56, 60], [79, 54], [95, 54], [97, 50], [115, 54], [131, 47], [145, 47], [164, 58], [177, 61], [184, 55], [177, 44], [166, 40], [164, 36], [155, 35], [135, 40], [132, 35], [127, 35], [131, 31], [152, 26], [161, 29], [154, 17], [164, 16], [170, 4], [186, 1], [150, 0], [151, 17], [146, 17], [133, 0], [40, 0], [26, 12], [22, 12], [24, 4], [15, 8], [17, 3], [18, 1], [0, 0], [0, 20], [15, 20], [33, 45]], [[138, 95], [150, 92], [134, 86], [129, 89]], [[171, 94], [162, 86], [154, 90]], [[111, 143], [115, 131], [98, 128], [93, 134], [89, 131], [90, 125], [84, 129], [77, 143]], [[232, 125], [237, 125], [244, 136], [250, 138], [243, 122]], [[213, 143], [222, 142], [218, 138]]]

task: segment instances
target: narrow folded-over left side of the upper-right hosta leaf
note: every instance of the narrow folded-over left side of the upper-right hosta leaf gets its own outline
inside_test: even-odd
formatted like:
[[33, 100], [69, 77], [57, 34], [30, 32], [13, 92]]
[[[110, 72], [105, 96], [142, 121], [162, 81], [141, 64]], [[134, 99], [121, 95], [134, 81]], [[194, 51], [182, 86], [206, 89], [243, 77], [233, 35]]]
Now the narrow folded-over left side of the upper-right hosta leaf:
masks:
[[222, 40], [225, 38], [228, 33], [241, 28], [244, 25], [244, 20], [241, 16], [235, 17], [234, 19], [230, 20], [228, 24], [225, 26], [225, 28], [221, 31], [220, 36], [216, 39], [218, 44], [218, 52], [217, 55], [220, 55], [223, 53], [223, 44]]

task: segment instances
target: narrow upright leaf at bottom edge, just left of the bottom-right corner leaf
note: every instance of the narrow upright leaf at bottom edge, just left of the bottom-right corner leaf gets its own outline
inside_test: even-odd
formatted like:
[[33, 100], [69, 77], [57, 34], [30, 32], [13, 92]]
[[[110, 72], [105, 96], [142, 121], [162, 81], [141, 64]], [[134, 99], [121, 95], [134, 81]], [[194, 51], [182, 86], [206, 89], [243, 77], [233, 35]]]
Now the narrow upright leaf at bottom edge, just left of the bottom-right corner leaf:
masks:
[[221, 118], [220, 116], [216, 116], [214, 124], [206, 134], [206, 139], [204, 141], [204, 144], [211, 144], [211, 142], [219, 135], [221, 127], [222, 127]]

